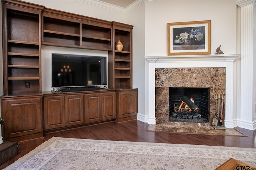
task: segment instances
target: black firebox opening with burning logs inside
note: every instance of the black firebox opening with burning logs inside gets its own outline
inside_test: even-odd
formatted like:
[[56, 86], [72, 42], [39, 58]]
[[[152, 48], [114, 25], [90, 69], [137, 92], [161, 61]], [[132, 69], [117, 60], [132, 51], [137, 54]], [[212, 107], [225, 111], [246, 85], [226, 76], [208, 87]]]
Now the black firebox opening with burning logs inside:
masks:
[[169, 122], [209, 123], [210, 88], [169, 88]]

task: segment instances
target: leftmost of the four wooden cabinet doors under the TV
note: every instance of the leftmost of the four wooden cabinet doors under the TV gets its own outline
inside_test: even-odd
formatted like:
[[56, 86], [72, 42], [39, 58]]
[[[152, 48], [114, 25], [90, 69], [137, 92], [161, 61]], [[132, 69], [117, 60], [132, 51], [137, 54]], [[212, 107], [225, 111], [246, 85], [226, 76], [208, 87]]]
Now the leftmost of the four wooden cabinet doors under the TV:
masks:
[[44, 130], [65, 126], [64, 96], [44, 97]]

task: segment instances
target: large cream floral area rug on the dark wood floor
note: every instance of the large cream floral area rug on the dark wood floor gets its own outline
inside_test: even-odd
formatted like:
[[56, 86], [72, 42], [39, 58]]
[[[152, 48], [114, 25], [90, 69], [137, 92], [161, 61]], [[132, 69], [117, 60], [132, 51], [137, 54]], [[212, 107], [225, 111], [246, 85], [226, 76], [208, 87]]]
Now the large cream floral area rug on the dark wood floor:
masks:
[[5, 170], [214, 170], [256, 166], [256, 149], [53, 137]]

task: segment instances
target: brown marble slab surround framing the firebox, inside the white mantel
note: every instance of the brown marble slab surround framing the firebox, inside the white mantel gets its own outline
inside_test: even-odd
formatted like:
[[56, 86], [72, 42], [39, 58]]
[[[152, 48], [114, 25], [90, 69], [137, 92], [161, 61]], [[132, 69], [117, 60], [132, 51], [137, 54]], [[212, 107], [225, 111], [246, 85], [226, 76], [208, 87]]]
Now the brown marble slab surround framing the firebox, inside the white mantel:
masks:
[[[170, 89], [183, 90], [183, 93], [181, 92], [181, 94], [178, 94], [180, 98], [184, 96], [184, 93], [189, 93], [191, 95], [193, 92], [197, 91], [198, 94], [193, 93], [196, 98], [199, 98], [198, 95], [202, 95], [202, 93], [207, 93], [208, 95], [206, 96], [208, 100], [206, 103], [208, 105], [208, 113], [206, 113], [207, 115], [204, 115], [203, 119], [206, 118], [208, 122], [212, 122], [216, 113], [215, 94], [225, 93], [225, 80], [225, 68], [156, 68], [156, 124], [169, 123]], [[190, 96], [187, 97], [190, 98]]]

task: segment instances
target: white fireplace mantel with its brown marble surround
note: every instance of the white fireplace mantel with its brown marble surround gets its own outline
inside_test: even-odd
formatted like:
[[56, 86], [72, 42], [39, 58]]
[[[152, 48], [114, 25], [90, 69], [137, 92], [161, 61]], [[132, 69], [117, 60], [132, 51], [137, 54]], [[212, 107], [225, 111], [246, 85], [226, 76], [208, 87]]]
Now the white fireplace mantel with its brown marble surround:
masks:
[[168, 124], [169, 88], [210, 88], [209, 122], [216, 114], [215, 94], [225, 93], [226, 128], [234, 127], [234, 60], [232, 55], [146, 56], [146, 113], [138, 119], [148, 124]]

